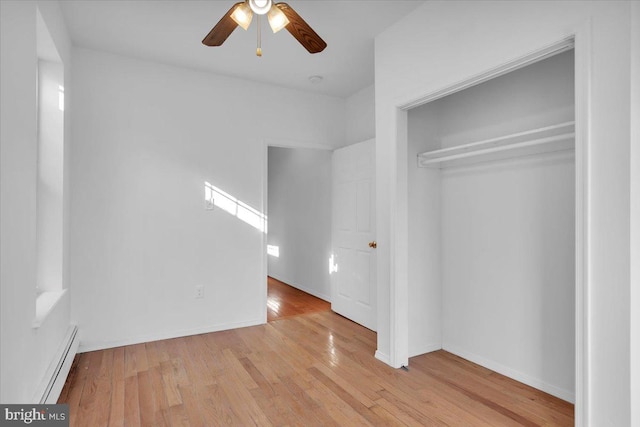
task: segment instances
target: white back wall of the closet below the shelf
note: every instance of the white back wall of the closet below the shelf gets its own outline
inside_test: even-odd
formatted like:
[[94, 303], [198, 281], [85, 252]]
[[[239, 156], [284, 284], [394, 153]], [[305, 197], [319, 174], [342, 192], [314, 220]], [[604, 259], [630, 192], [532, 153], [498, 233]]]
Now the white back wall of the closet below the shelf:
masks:
[[573, 174], [566, 155], [443, 171], [441, 213], [443, 348], [569, 401]]

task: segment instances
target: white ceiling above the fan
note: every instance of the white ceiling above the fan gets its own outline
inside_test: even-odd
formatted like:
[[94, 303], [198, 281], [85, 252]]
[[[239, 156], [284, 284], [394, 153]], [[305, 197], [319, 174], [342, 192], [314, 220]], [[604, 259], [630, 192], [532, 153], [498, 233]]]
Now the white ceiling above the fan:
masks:
[[[309, 54], [286, 30], [262, 25], [261, 58], [255, 55], [255, 18], [221, 47], [202, 39], [237, 0], [63, 0], [74, 45], [181, 67], [338, 97], [373, 84], [374, 37], [423, 0], [289, 0], [327, 42]], [[320, 83], [309, 77], [320, 75]]]

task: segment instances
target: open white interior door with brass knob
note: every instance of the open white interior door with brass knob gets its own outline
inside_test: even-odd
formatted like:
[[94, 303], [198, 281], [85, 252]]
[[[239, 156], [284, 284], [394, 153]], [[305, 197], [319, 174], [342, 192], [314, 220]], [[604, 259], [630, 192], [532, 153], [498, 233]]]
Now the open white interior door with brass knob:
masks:
[[333, 152], [331, 309], [375, 331], [374, 231], [375, 142], [370, 140]]

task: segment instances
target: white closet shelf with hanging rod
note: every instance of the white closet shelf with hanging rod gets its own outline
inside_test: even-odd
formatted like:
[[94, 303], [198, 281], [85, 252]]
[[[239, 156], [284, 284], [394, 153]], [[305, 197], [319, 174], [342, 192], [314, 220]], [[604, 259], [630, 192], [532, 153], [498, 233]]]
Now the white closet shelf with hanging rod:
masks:
[[482, 160], [566, 150], [574, 147], [575, 122], [559, 123], [418, 154], [418, 167], [443, 168]]

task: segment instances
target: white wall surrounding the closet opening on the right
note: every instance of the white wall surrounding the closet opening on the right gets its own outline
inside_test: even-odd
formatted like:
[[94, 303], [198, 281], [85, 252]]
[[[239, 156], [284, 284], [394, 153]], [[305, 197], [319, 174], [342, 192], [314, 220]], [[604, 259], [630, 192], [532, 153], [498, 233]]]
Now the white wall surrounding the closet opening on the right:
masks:
[[376, 39], [378, 351], [392, 365], [404, 363], [408, 354], [406, 147], [398, 145], [406, 123], [397, 107], [582, 31], [591, 43], [581, 51], [591, 54], [591, 62], [577, 60], [588, 67], [590, 305], [587, 400], [580, 408], [586, 410], [578, 419], [629, 424], [631, 7], [595, 1], [427, 2]]

